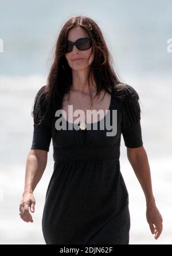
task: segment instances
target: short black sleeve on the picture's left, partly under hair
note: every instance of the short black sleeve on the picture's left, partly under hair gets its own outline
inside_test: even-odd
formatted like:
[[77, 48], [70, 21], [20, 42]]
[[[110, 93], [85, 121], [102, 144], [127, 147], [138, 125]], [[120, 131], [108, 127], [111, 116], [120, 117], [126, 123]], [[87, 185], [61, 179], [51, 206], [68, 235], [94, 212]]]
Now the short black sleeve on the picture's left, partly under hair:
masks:
[[43, 91], [38, 91], [33, 108], [33, 140], [31, 150], [45, 150], [49, 152], [49, 146], [52, 139], [51, 123], [43, 121], [39, 124], [40, 117], [45, 112], [45, 97]]

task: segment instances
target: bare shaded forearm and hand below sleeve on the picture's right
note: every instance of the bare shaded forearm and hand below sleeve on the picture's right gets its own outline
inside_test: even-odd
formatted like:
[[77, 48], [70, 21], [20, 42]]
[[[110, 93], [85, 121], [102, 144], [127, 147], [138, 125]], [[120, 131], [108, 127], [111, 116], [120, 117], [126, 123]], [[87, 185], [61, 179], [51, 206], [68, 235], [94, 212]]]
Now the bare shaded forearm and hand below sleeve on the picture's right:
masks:
[[140, 185], [142, 186], [146, 198], [146, 218], [155, 239], [158, 239], [162, 232], [162, 216], [155, 204], [153, 189], [151, 184], [150, 166], [144, 147], [128, 148], [127, 158]]

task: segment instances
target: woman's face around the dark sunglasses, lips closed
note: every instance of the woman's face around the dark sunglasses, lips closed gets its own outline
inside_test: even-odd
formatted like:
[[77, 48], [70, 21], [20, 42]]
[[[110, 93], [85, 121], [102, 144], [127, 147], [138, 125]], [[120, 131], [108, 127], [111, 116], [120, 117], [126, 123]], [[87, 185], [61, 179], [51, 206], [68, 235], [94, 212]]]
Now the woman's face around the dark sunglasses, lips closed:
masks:
[[[69, 41], [75, 42], [77, 39], [79, 39], [81, 37], [89, 37], [89, 36], [88, 36], [87, 32], [80, 26], [72, 28], [68, 32], [68, 40]], [[89, 58], [91, 51], [92, 51], [92, 47], [85, 51], [81, 51], [81, 50], [77, 49], [76, 45], [73, 45], [72, 51], [66, 53], [65, 58], [67, 59], [69, 66], [73, 70], [83, 70], [84, 68], [88, 68], [88, 66], [93, 61], [93, 58], [94, 58], [93, 53], [92, 53], [91, 57]], [[77, 59], [77, 58], [83, 58], [83, 59], [73, 60], [73, 59]], [[88, 60], [88, 58], [89, 58], [89, 60]]]

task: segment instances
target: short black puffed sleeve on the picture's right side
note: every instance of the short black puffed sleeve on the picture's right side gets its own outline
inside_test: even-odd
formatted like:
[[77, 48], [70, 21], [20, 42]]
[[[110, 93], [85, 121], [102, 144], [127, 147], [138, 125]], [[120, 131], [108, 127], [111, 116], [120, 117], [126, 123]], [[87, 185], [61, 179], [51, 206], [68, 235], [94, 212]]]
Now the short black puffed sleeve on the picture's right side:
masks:
[[124, 98], [120, 101], [124, 144], [128, 148], [141, 147], [143, 146], [143, 140], [140, 125], [139, 95], [130, 85], [126, 85], [124, 91]]

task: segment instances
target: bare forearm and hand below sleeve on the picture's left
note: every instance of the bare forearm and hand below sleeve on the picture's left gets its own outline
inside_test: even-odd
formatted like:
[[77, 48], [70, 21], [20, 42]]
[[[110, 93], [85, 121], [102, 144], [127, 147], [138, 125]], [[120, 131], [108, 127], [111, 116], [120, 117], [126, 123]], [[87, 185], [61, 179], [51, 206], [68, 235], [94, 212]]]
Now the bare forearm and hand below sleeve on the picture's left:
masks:
[[[33, 191], [40, 181], [46, 168], [48, 152], [45, 150], [30, 150], [26, 161], [25, 186], [19, 205], [19, 215], [26, 222], [33, 222], [30, 212], [34, 212], [36, 200]], [[29, 212], [30, 208], [30, 212]]]

